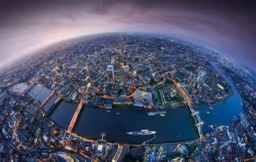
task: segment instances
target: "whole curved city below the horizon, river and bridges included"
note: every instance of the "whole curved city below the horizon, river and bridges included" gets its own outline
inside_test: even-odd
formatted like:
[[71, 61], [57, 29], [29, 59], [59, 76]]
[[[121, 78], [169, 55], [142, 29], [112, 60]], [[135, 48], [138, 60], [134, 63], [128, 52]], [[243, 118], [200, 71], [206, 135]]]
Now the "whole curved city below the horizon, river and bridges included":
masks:
[[170, 37], [66, 40], [1, 69], [0, 161], [254, 161], [255, 85]]

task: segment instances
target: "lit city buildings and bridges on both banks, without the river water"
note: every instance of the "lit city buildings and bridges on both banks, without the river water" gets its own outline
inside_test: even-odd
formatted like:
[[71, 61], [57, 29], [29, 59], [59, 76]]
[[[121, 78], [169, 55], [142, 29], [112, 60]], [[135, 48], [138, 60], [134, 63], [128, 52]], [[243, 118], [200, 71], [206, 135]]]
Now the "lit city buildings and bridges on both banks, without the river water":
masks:
[[[219, 62], [217, 67], [235, 84], [244, 110], [230, 125], [211, 125], [205, 134], [194, 107], [206, 103], [211, 108], [233, 95], [211, 61]], [[26, 88], [15, 88], [19, 83]], [[43, 101], [29, 95], [37, 84], [52, 91]], [[0, 160], [253, 161], [255, 85], [255, 74], [239, 62], [168, 37], [109, 33], [64, 41], [1, 70]], [[53, 96], [57, 99], [45, 111]], [[50, 117], [60, 101], [78, 103], [68, 129]], [[133, 145], [108, 142], [107, 133], [99, 132], [98, 140], [86, 139], [73, 132], [83, 105], [104, 111], [148, 109], [163, 116], [168, 108], [186, 106], [199, 138]]]

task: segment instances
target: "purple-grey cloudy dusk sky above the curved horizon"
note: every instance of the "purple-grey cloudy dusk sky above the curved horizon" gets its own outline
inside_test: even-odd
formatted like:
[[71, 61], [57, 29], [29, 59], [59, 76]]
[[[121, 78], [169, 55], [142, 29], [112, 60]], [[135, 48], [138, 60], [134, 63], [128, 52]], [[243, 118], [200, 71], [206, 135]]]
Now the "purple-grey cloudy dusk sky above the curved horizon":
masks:
[[256, 70], [254, 1], [0, 1], [0, 67], [39, 48], [104, 32], [147, 32], [208, 47]]

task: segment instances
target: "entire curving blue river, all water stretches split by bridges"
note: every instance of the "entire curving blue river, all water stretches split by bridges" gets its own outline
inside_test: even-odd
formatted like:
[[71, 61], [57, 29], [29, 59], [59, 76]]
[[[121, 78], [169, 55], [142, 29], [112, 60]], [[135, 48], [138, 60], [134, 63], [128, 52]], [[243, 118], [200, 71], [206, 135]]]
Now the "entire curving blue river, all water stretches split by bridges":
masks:
[[[242, 111], [242, 106], [240, 105], [241, 97], [234, 84], [216, 67], [218, 62], [210, 62], [210, 64], [230, 84], [234, 95], [227, 98], [225, 103], [212, 105], [213, 110], [207, 104], [200, 104], [198, 108], [194, 108], [200, 112], [201, 120], [204, 121], [202, 126], [204, 134], [210, 131], [208, 125], [230, 125], [232, 117], [238, 116], [239, 112]], [[50, 95], [51, 90], [41, 86], [36, 85], [28, 94], [32, 97], [39, 98], [39, 101], [42, 102]], [[53, 96], [46, 103], [44, 107], [45, 111], [48, 111], [50, 105], [56, 98], [56, 96]], [[63, 128], [67, 129], [77, 106], [78, 103], [61, 101], [52, 112], [51, 118], [63, 126]], [[147, 111], [149, 110], [112, 108], [110, 112], [107, 112], [106, 110], [101, 111], [100, 108], [84, 105], [80, 111], [73, 132], [87, 139], [98, 139], [100, 138], [100, 133], [105, 132], [105, 138], [108, 141], [134, 144], [141, 144], [152, 138], [153, 135], [131, 136], [127, 135], [126, 132], [142, 129], [157, 131], [156, 139], [153, 139], [150, 143], [170, 143], [199, 138], [198, 131], [194, 127], [194, 119], [190, 116], [191, 112], [187, 107], [167, 109], [165, 117], [159, 115], [149, 116], [146, 113]], [[210, 114], [207, 114], [207, 111]], [[120, 112], [120, 114], [117, 115], [117, 112]], [[176, 138], [176, 135], [180, 136]]]

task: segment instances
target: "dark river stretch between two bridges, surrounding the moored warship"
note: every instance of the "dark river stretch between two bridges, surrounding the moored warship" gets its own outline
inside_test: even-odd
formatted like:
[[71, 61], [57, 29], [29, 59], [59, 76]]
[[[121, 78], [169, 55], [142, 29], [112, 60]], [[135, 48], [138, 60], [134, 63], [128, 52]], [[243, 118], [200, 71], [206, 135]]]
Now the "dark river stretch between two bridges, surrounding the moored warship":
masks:
[[[173, 142], [198, 138], [193, 118], [188, 108], [166, 110], [165, 117], [147, 115], [147, 110], [133, 110], [131, 108], [113, 108], [100, 111], [99, 108], [84, 106], [75, 125], [74, 132], [86, 138], [98, 138], [100, 132], [106, 133], [109, 141], [122, 143], [142, 143], [153, 137], [131, 136], [126, 132], [149, 129], [157, 131], [156, 139], [152, 143]], [[119, 115], [116, 112], [120, 112]], [[177, 135], [179, 138], [176, 138]]]

